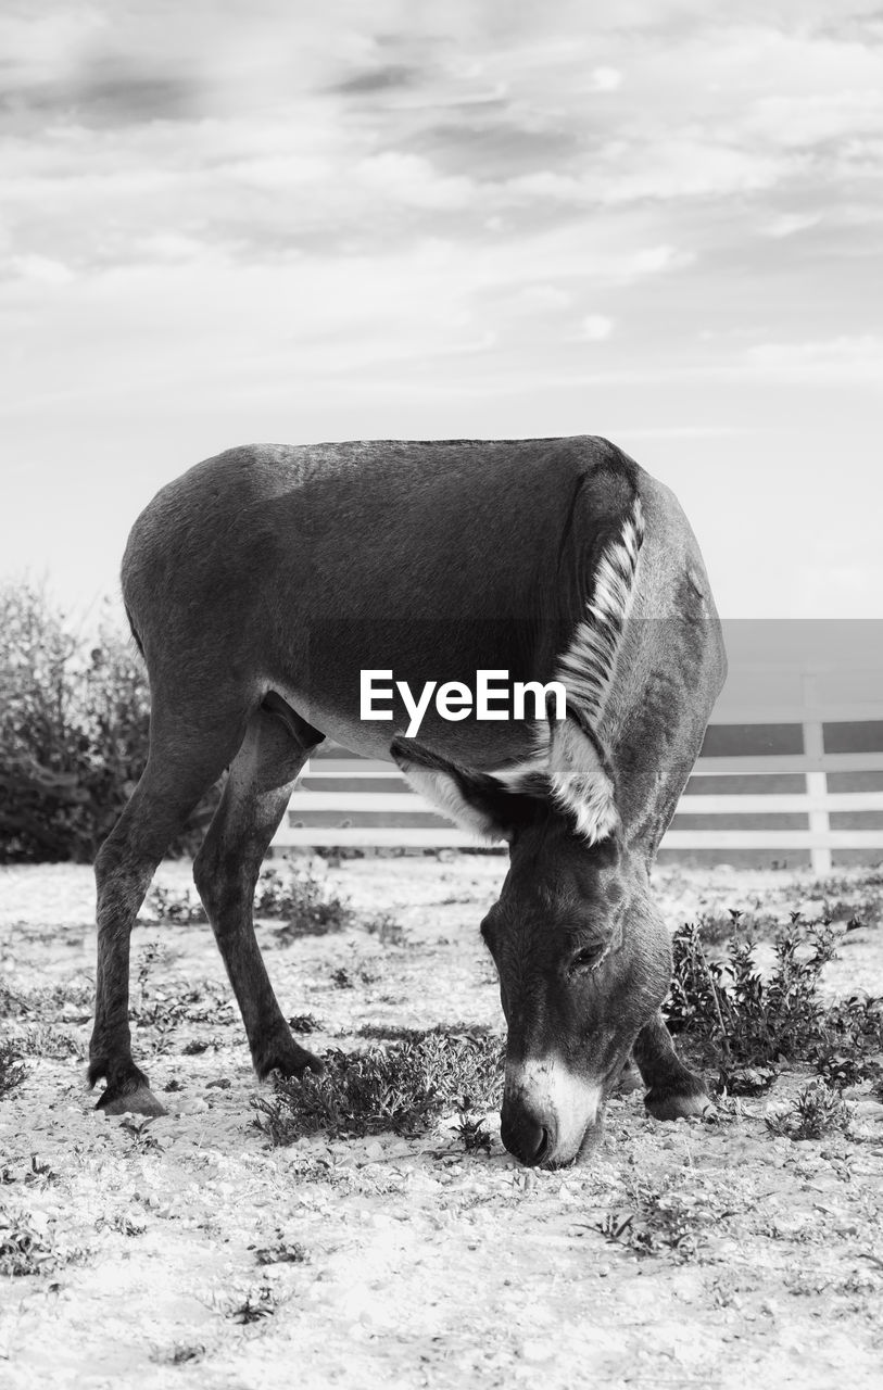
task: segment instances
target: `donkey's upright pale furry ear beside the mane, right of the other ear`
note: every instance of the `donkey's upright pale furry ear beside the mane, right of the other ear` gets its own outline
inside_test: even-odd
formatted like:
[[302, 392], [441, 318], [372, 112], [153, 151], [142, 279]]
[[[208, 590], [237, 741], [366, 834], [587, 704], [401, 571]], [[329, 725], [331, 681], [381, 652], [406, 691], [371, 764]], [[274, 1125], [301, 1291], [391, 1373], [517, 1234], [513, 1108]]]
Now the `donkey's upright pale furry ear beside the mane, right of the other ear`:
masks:
[[590, 845], [613, 834], [619, 826], [613, 770], [601, 739], [572, 708], [566, 719], [549, 719], [546, 776], [553, 799]]

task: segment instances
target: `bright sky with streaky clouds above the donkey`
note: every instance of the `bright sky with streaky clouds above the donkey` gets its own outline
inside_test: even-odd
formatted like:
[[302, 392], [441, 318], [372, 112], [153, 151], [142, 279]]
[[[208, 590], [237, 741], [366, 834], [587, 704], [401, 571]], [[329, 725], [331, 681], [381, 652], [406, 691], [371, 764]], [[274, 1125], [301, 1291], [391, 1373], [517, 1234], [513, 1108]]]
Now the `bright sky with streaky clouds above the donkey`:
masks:
[[883, 4], [4, 0], [0, 575], [231, 445], [613, 439], [726, 617], [883, 617]]

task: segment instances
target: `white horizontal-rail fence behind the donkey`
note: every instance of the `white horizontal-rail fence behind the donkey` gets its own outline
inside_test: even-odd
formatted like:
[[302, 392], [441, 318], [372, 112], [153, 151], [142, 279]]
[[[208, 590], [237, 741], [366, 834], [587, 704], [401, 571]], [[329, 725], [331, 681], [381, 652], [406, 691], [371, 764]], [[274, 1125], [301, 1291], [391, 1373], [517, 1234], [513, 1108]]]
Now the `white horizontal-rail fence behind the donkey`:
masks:
[[[395, 764], [330, 748], [305, 770], [271, 848], [305, 845], [476, 841]], [[818, 873], [836, 851], [883, 859], [883, 664], [844, 671], [765, 660], [733, 671], [662, 849], [800, 851]]]

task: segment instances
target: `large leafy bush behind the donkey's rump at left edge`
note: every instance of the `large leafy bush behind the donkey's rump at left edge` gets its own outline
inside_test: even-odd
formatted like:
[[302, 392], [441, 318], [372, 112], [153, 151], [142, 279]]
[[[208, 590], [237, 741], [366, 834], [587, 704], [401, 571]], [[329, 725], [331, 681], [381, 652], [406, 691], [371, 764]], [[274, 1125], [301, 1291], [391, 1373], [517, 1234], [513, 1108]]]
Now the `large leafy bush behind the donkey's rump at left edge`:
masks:
[[[29, 582], [0, 585], [0, 862], [86, 862], [147, 759], [149, 691], [135, 645], [110, 620], [88, 642]], [[199, 842], [218, 791], [171, 852]]]

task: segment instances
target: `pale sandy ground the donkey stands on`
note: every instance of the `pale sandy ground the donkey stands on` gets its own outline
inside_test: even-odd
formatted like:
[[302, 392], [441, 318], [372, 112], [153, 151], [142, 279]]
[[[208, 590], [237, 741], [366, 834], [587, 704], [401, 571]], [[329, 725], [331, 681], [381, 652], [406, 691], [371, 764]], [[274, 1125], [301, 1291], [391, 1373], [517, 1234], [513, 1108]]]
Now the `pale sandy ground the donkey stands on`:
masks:
[[[392, 912], [406, 945], [359, 930], [284, 945], [263, 926], [284, 1011], [323, 1023], [307, 1045], [353, 1045], [366, 1023], [502, 1030], [476, 930], [502, 867], [452, 855], [330, 870], [356, 908]], [[188, 866], [160, 880], [182, 885]], [[786, 920], [812, 906], [808, 884], [659, 874], [672, 926], [727, 906]], [[42, 1054], [0, 1099], [0, 1212], [46, 1251], [40, 1273], [0, 1280], [4, 1386], [883, 1384], [883, 1106], [869, 1097], [848, 1138], [793, 1143], [763, 1115], [808, 1073], [716, 1123], [658, 1125], [637, 1093], [610, 1104], [592, 1165], [556, 1173], [519, 1168], [498, 1134], [489, 1156], [464, 1154], [449, 1125], [273, 1148], [210, 929], [145, 923], [135, 997], [160, 1016], [188, 991], [199, 1002], [135, 1036], [171, 1115], [106, 1119], [82, 1083], [92, 912], [88, 869], [0, 870], [0, 981], [32, 1001], [1, 1026]], [[356, 988], [335, 986], [341, 966]], [[883, 992], [879, 926], [850, 934], [827, 984]], [[649, 1209], [672, 1220], [644, 1257], [612, 1233]], [[263, 1264], [267, 1250], [289, 1258]]]

